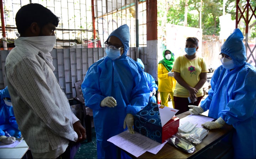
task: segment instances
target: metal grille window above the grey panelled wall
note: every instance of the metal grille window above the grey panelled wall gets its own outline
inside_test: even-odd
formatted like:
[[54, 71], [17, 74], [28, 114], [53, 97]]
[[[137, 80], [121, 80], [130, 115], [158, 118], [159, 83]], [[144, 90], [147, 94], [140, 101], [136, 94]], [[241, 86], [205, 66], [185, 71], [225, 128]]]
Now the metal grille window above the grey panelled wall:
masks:
[[[98, 48], [116, 28], [127, 24], [130, 28], [130, 47], [136, 45], [135, 0], [1, 0], [1, 50], [14, 47], [18, 31], [15, 15], [21, 6], [39, 3], [56, 16], [56, 49]], [[146, 4], [139, 0], [139, 47], [146, 46]]]

